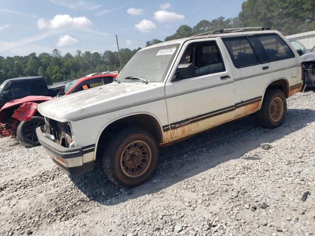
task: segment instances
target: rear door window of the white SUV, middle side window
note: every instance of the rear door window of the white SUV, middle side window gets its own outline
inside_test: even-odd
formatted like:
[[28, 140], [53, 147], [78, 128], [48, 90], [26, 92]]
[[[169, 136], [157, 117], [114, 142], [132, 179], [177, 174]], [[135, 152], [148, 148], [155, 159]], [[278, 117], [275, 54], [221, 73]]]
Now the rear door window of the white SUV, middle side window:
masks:
[[222, 38], [235, 67], [258, 64], [258, 60], [246, 37]]

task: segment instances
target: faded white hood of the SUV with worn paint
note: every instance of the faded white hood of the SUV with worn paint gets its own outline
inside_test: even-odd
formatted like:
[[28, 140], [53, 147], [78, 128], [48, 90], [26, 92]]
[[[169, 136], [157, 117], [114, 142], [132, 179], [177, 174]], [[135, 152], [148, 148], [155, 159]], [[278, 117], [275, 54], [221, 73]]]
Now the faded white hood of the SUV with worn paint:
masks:
[[146, 99], [161, 96], [160, 91], [154, 90], [163, 86], [164, 83], [112, 83], [41, 103], [38, 111], [45, 117], [62, 121], [143, 100], [143, 96]]

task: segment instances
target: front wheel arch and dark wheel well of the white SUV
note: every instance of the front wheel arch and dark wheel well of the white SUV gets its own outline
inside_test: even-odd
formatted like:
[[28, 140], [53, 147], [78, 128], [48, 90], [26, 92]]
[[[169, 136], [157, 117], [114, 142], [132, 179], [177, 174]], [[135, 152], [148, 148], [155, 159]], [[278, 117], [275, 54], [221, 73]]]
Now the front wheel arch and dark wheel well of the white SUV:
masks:
[[105, 145], [101, 147], [99, 144], [102, 141], [105, 141], [108, 135], [118, 132], [126, 127], [130, 127], [130, 125], [148, 130], [157, 139], [158, 144], [163, 142], [164, 135], [162, 125], [155, 115], [147, 112], [128, 114], [111, 120], [99, 131], [95, 142], [94, 160], [97, 160], [97, 156], [100, 154], [102, 155]]

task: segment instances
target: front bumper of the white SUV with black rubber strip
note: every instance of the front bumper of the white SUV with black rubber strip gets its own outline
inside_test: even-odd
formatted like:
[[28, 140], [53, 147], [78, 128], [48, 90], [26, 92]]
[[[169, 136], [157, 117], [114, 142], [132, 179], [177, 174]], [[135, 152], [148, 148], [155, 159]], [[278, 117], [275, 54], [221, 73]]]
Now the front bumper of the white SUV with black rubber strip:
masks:
[[83, 163], [83, 148], [64, 148], [61, 145], [46, 138], [42, 133], [42, 127], [36, 129], [39, 143], [46, 148], [49, 156], [67, 175], [76, 175], [92, 171], [94, 161]]

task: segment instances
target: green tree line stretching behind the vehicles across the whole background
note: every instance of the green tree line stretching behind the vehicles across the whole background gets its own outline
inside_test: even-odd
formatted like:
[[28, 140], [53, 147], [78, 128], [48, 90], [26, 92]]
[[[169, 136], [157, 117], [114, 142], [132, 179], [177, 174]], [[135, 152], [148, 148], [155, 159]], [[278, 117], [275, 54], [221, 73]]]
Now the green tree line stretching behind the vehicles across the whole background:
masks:
[[[315, 30], [314, 0], [246, 0], [242, 10], [235, 18], [219, 17], [212, 21], [202, 20], [193, 27], [180, 26], [176, 32], [167, 36], [164, 41], [189, 37], [195, 34], [216, 29], [265, 26], [277, 29], [284, 35]], [[153, 39], [146, 46], [163, 42]], [[122, 65], [141, 48], [134, 50], [121, 49]], [[120, 68], [118, 52], [105, 51], [91, 53], [76, 51], [61, 55], [58, 49], [51, 54], [41, 53], [36, 56], [6, 57], [0, 56], [0, 83], [9, 78], [21, 76], [43, 76], [48, 84], [73, 80], [94, 72], [114, 71]]]

